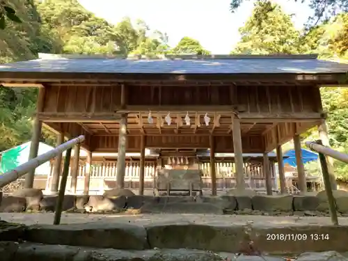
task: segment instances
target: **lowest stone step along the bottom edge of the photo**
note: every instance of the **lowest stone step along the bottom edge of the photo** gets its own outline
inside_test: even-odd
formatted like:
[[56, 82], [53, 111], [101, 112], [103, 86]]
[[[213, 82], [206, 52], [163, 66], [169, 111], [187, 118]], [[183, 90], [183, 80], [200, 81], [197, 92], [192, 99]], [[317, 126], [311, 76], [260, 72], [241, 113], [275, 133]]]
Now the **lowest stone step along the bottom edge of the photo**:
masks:
[[[1, 261], [284, 261], [289, 256], [235, 255], [235, 253], [213, 253], [194, 249], [149, 249], [143, 251], [118, 250], [113, 248], [86, 248], [65, 245], [0, 242]], [[301, 253], [292, 255], [296, 261], [348, 261], [347, 254], [335, 251]]]

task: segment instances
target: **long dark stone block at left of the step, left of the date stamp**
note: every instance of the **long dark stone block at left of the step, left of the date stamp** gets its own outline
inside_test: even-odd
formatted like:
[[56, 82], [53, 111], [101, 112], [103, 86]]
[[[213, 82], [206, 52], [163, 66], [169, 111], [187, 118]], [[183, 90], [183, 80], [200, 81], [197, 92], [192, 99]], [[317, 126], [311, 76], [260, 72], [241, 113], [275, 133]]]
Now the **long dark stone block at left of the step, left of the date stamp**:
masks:
[[25, 239], [42, 244], [90, 246], [95, 248], [129, 250], [148, 248], [145, 228], [125, 223], [31, 226], [26, 230]]

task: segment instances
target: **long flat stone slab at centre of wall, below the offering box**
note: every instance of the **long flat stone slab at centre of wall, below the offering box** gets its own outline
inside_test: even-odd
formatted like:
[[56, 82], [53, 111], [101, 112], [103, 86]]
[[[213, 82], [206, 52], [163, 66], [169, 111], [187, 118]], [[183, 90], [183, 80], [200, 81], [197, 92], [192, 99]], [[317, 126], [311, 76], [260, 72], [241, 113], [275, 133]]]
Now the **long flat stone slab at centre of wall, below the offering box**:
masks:
[[145, 203], [141, 207], [141, 213], [222, 215], [223, 209], [209, 203]]

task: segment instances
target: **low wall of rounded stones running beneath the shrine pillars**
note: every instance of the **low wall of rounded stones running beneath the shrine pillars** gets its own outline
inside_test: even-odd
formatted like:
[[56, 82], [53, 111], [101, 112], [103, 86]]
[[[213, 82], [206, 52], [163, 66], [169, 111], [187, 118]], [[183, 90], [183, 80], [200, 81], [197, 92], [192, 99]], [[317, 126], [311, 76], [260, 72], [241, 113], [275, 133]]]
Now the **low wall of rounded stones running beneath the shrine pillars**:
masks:
[[[348, 193], [334, 191], [336, 208], [348, 214]], [[40, 193], [13, 193], [2, 196], [0, 212], [52, 212], [58, 196]], [[327, 214], [329, 204], [325, 191], [317, 196], [72, 196], [65, 195], [63, 211], [135, 213], [205, 213], [205, 214]]]

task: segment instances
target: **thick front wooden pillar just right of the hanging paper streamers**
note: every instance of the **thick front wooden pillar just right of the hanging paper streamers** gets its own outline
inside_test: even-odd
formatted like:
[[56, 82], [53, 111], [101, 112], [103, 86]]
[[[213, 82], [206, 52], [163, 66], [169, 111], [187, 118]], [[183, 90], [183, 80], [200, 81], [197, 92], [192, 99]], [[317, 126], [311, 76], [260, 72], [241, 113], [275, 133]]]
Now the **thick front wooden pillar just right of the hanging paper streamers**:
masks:
[[244, 163], [242, 150], [242, 134], [240, 130], [240, 120], [234, 118], [232, 122], [233, 152], [235, 154], [236, 184], [237, 190], [245, 190]]

